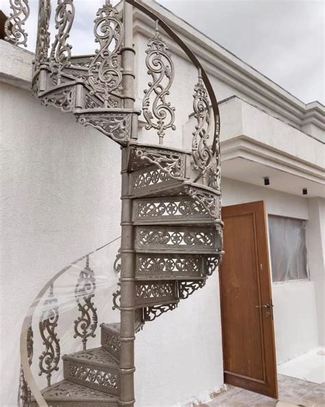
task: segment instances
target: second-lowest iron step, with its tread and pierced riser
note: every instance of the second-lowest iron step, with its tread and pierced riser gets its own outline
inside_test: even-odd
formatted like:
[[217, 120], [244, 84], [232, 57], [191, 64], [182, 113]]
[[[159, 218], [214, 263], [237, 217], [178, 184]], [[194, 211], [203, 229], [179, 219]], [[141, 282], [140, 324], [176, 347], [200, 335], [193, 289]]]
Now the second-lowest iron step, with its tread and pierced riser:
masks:
[[64, 379], [119, 395], [119, 364], [103, 347], [64, 355], [62, 360]]

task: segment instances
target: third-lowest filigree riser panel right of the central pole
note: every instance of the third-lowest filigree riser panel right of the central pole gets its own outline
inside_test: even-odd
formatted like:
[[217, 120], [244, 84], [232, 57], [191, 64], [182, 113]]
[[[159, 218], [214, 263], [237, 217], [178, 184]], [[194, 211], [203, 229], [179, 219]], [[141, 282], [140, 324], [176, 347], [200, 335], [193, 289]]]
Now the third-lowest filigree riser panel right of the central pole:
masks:
[[215, 248], [215, 231], [211, 228], [169, 228], [167, 226], [136, 229], [136, 248], [202, 250]]

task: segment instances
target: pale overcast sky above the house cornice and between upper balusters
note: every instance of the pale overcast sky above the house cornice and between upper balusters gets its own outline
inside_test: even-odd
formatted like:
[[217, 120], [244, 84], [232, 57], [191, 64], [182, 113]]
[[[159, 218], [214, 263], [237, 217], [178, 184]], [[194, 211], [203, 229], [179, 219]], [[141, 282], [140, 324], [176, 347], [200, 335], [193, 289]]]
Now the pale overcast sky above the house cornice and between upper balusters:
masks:
[[[325, 104], [325, 0], [158, 2], [302, 102]], [[34, 51], [38, 0], [29, 3], [28, 49]], [[73, 54], [93, 52], [93, 19], [102, 3], [75, 0]], [[2, 0], [1, 8], [8, 15], [9, 0]]]

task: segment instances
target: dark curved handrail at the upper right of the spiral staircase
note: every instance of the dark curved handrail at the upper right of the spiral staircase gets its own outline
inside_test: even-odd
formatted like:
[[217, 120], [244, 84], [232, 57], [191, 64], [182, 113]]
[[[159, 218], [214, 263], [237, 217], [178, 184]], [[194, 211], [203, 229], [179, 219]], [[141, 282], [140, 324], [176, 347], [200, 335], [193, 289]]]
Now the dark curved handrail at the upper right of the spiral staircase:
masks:
[[215, 97], [215, 92], [213, 91], [213, 86], [210, 83], [208, 74], [206, 74], [204, 67], [202, 67], [202, 64], [197, 59], [195, 54], [193, 54], [193, 52], [191, 51], [189, 46], [186, 45], [186, 43], [184, 43], [184, 41], [182, 41], [182, 39], [180, 39], [180, 37], [175, 32], [173, 32], [173, 30], [169, 27], [169, 25], [167, 23], [165, 23], [165, 21], [163, 21], [163, 19], [161, 19], [156, 14], [154, 14], [154, 12], [152, 12], [152, 10], [149, 10], [149, 8], [147, 8], [143, 3], [139, 3], [136, 0], [125, 0], [125, 1], [127, 3], [130, 3], [131, 5], [133, 5], [135, 8], [139, 9], [141, 12], [143, 12], [148, 17], [150, 17], [152, 20], [158, 21], [158, 24], [160, 25], [160, 27], [163, 28], [163, 30], [165, 30], [165, 32], [167, 32], [167, 34], [171, 37], [171, 39], [173, 39], [173, 41], [175, 41], [180, 46], [180, 48], [182, 48], [182, 50], [185, 52], [186, 56], [189, 57], [189, 59], [191, 60], [193, 65], [195, 65], [195, 67], [198, 70], [199, 69], [201, 70], [202, 80], [206, 87], [206, 90], [208, 91], [208, 96], [210, 98], [211, 106], [213, 109], [213, 116], [215, 118], [215, 132], [214, 132], [214, 138], [213, 138], [213, 144], [212, 144], [212, 152], [213, 152], [213, 154], [215, 154], [217, 151], [217, 137], [219, 136], [219, 129], [220, 129], [219, 107], [218, 107], [217, 98]]

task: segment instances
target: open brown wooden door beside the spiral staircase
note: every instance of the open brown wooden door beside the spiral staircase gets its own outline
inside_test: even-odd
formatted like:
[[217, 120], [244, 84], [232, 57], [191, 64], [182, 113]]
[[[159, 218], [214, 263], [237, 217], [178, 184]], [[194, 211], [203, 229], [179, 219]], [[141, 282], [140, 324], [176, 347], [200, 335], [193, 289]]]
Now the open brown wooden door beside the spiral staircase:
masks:
[[220, 267], [225, 382], [278, 397], [263, 201], [222, 208]]

